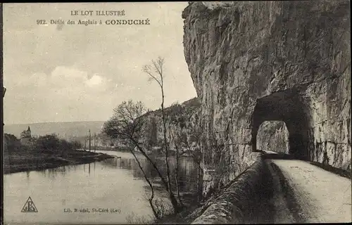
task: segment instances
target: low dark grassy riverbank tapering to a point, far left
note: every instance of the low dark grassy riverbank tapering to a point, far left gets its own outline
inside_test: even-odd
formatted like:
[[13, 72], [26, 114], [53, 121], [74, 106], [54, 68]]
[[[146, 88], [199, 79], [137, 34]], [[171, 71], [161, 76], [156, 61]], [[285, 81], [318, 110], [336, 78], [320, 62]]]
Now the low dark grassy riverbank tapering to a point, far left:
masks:
[[92, 153], [84, 150], [70, 150], [55, 153], [49, 150], [9, 152], [4, 155], [4, 174], [27, 172], [40, 169], [52, 169], [65, 165], [80, 165], [114, 158], [104, 153]]

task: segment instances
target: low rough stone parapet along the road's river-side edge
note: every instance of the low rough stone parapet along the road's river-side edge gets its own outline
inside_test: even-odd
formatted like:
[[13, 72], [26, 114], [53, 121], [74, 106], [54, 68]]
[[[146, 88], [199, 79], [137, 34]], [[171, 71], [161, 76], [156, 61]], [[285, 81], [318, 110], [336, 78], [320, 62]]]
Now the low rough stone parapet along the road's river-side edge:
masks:
[[[191, 224], [260, 223], [258, 207], [270, 198], [272, 177], [268, 165], [257, 160], [234, 181], [189, 215]], [[263, 207], [263, 205], [261, 205]]]

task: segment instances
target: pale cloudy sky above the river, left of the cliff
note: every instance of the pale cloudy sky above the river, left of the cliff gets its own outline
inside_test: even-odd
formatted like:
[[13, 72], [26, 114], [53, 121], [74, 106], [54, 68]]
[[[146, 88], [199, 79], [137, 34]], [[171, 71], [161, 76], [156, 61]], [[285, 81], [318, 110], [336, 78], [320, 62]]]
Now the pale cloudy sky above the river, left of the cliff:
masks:
[[[165, 59], [165, 105], [194, 98], [182, 44], [181, 14], [186, 6], [187, 2], [4, 4], [4, 123], [104, 121], [129, 99], [156, 110], [161, 91], [142, 68], [158, 56]], [[96, 15], [122, 10], [125, 15]], [[75, 11], [78, 15], [72, 15]], [[149, 19], [150, 25], [105, 24], [117, 19]], [[46, 20], [46, 25], [37, 20]], [[75, 25], [66, 24], [68, 20]], [[80, 25], [78, 20], [95, 20], [98, 25]]]

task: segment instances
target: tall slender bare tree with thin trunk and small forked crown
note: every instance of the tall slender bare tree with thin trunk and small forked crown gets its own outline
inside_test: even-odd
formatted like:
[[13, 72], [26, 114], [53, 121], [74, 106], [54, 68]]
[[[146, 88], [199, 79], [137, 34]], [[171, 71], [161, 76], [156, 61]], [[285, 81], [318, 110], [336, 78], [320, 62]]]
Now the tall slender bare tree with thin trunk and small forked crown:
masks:
[[[164, 108], [164, 102], [165, 102], [165, 96], [164, 96], [164, 74], [163, 74], [163, 68], [164, 68], [164, 63], [165, 60], [161, 57], [158, 57], [157, 60], [151, 60], [152, 65], [144, 65], [143, 67], [143, 72], [145, 72], [149, 76], [150, 81], [155, 81], [158, 86], [161, 89], [161, 113], [163, 117], [163, 136], [164, 136], [164, 148], [165, 148], [165, 165], [166, 165], [166, 178], [168, 181], [168, 189], [171, 190], [171, 180], [170, 180], [170, 165], [169, 165], [169, 147], [168, 147], [168, 139], [166, 136], [166, 117], [165, 117], [165, 108]], [[175, 196], [173, 195], [172, 191], [169, 191], [170, 194], [170, 200], [172, 205], [174, 205], [175, 212], [178, 212], [180, 209], [178, 207], [177, 200], [175, 199]], [[175, 202], [172, 202], [172, 201]]]

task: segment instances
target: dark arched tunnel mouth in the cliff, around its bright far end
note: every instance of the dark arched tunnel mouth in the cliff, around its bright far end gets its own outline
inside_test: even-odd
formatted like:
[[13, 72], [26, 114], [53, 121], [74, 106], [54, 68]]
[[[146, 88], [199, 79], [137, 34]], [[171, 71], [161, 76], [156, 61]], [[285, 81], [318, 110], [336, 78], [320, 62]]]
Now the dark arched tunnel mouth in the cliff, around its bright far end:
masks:
[[309, 160], [309, 120], [306, 106], [295, 90], [278, 91], [258, 98], [253, 112], [252, 147], [257, 151], [257, 134], [265, 121], [282, 121], [289, 132], [288, 153], [296, 159]]

